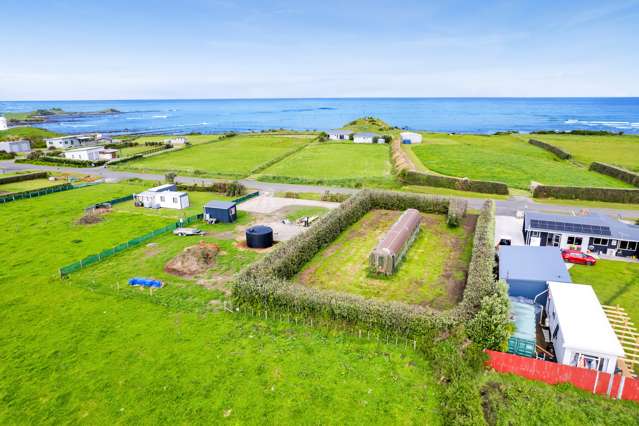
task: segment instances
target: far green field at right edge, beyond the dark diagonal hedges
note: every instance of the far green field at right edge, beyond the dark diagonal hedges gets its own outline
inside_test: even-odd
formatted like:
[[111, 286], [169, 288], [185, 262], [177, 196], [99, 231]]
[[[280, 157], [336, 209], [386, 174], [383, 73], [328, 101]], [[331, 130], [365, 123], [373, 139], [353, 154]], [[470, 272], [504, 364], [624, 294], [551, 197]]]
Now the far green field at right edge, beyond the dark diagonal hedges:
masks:
[[639, 171], [639, 135], [530, 135], [530, 138], [558, 146], [585, 165], [599, 161]]

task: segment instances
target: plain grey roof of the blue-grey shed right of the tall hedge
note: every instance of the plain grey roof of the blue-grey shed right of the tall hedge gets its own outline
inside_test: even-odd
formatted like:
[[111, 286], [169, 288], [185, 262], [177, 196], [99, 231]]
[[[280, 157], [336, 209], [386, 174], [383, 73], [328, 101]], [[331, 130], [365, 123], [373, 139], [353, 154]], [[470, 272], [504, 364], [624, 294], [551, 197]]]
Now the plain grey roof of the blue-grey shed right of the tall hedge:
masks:
[[559, 247], [500, 246], [499, 278], [571, 283]]

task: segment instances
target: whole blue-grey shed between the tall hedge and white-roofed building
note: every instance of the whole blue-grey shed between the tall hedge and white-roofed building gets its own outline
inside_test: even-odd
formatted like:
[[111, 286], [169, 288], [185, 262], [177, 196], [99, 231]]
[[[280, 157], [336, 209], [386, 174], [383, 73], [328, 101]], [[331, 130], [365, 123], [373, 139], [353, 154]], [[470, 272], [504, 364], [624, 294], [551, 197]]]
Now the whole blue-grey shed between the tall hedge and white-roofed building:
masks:
[[557, 247], [500, 246], [499, 279], [508, 284], [508, 295], [544, 305], [548, 281], [572, 282]]

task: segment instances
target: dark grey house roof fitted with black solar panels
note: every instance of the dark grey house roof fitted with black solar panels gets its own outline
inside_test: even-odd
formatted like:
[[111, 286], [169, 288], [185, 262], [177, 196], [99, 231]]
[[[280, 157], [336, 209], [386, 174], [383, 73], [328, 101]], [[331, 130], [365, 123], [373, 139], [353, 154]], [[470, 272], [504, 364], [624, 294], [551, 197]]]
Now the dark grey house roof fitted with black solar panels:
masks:
[[[564, 226], [564, 229], [558, 229], [548, 222], [563, 223], [568, 224], [568, 226]], [[639, 226], [629, 225], [602, 214], [568, 216], [528, 212], [524, 217], [524, 226], [526, 229], [536, 231], [574, 233], [598, 237], [606, 236], [617, 240], [639, 241]]]

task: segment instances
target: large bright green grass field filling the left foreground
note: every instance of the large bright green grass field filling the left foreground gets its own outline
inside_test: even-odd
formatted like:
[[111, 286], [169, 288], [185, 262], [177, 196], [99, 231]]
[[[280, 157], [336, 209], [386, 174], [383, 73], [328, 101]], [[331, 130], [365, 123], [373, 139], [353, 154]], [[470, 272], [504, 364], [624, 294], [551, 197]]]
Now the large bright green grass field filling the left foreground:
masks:
[[[203, 225], [221, 248], [210, 281], [163, 272], [200, 240], [172, 235], [60, 280], [59, 266], [173, 220], [115, 209], [75, 223], [147, 186], [0, 206], [0, 423], [441, 424], [440, 385], [412, 349], [221, 310], [215, 278], [257, 256], [228, 239], [234, 225]], [[132, 276], [167, 286], [150, 295]]]

